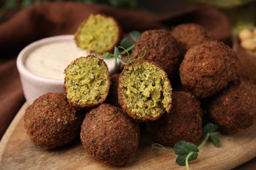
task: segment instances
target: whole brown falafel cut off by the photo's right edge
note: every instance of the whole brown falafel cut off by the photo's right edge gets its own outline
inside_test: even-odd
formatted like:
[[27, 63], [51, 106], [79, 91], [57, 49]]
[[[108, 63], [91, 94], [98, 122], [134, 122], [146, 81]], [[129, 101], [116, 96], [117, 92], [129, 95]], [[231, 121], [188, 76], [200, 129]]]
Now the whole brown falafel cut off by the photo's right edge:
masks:
[[207, 99], [210, 118], [226, 134], [234, 134], [256, 122], [255, 85], [237, 80]]

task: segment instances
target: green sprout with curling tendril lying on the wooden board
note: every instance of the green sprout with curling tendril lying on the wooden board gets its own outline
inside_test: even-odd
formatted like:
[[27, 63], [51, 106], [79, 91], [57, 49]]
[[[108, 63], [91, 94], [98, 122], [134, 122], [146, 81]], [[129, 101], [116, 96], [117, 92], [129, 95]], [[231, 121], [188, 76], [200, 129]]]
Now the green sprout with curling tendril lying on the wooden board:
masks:
[[203, 133], [206, 133], [205, 138], [203, 139], [202, 143], [199, 146], [196, 146], [194, 143], [189, 143], [186, 141], [180, 141], [179, 143], [175, 144], [173, 147], [173, 150], [167, 149], [161, 144], [155, 143], [152, 144], [152, 150], [155, 148], [166, 150], [166, 151], [174, 151], [175, 154], [177, 154], [176, 163], [179, 165], [186, 165], [186, 169], [189, 169], [188, 161], [196, 160], [198, 158], [198, 152], [203, 147], [203, 145], [208, 141], [211, 141], [211, 143], [214, 144], [214, 146], [219, 146], [220, 140], [219, 140], [219, 132], [216, 131], [218, 128], [217, 125], [209, 123], [203, 127]]

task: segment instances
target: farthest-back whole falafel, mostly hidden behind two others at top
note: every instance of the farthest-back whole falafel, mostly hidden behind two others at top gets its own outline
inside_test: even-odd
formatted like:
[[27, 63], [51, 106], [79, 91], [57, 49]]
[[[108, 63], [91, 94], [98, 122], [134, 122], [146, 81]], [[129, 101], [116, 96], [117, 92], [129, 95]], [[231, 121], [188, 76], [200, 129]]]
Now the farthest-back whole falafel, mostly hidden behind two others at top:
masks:
[[171, 35], [181, 44], [184, 52], [204, 41], [214, 40], [213, 36], [207, 33], [203, 27], [194, 23], [177, 25], [171, 31]]

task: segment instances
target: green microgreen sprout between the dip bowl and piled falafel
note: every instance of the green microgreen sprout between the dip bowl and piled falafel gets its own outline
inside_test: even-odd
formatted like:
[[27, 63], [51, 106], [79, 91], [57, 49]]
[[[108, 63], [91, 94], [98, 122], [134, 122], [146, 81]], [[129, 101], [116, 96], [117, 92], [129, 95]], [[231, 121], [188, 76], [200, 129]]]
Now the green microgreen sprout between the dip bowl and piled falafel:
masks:
[[121, 61], [121, 63], [126, 64], [125, 61], [123, 61], [121, 58], [123, 55], [127, 54], [128, 61], [127, 63], [133, 61], [133, 59], [129, 58], [129, 53], [133, 50], [135, 47], [135, 42], [140, 38], [141, 33], [139, 31], [132, 31], [129, 33], [131, 39], [124, 38], [120, 42], [120, 46], [114, 47], [114, 53], [110, 52], [104, 52], [102, 54], [103, 58], [109, 59], [109, 58], [115, 58], [115, 67], [117, 67], [117, 59]]

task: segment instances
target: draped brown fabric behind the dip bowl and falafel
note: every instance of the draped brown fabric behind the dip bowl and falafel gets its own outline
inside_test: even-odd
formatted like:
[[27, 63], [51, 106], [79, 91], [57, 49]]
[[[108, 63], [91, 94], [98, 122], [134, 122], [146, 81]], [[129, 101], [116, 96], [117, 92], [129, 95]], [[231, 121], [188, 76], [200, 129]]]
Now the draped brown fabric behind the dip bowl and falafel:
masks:
[[230, 26], [215, 9], [192, 9], [165, 16], [146, 11], [114, 9], [83, 3], [39, 3], [20, 10], [0, 24], [0, 138], [24, 103], [16, 57], [24, 46], [43, 37], [75, 33], [78, 25], [91, 13], [113, 16], [124, 33], [146, 29], [169, 28], [184, 22], [196, 22], [217, 39], [230, 42]]

